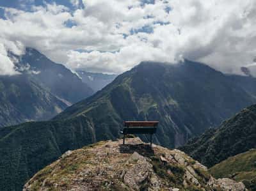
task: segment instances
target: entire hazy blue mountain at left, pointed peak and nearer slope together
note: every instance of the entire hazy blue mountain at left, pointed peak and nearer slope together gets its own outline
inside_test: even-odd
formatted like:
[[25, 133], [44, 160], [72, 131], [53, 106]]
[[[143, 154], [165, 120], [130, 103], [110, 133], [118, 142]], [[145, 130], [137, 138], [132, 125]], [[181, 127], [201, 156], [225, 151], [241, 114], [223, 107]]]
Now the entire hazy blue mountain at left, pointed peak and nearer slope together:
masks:
[[35, 49], [10, 57], [20, 74], [0, 75], [0, 127], [51, 119], [93, 93], [76, 74]]

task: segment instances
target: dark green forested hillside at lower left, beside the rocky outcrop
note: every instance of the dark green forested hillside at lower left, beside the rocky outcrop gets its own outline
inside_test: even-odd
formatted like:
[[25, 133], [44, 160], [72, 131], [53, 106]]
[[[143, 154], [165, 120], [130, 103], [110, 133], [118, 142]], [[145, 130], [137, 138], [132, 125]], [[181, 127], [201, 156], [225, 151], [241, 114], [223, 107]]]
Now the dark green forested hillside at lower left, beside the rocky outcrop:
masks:
[[0, 190], [22, 190], [35, 172], [68, 149], [95, 142], [84, 118], [0, 128]]

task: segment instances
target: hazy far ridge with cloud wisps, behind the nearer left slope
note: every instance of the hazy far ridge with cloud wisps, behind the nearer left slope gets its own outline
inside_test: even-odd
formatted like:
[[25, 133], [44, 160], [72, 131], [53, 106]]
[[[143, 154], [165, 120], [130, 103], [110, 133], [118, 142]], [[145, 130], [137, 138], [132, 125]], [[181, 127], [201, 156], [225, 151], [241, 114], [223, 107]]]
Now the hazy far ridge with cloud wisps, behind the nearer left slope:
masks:
[[48, 88], [54, 95], [76, 103], [93, 94], [92, 88], [63, 65], [52, 62], [35, 49], [26, 48], [26, 54], [16, 58], [18, 70]]

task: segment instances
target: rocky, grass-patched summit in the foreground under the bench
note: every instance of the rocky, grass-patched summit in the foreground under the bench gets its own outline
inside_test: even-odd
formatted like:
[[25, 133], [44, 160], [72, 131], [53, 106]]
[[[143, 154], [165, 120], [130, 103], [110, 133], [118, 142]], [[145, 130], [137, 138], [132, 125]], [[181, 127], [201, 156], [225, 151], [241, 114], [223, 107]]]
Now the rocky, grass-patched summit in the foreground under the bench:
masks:
[[139, 138], [126, 142], [101, 141], [67, 151], [23, 190], [246, 190], [241, 182], [214, 179], [182, 151], [151, 148]]

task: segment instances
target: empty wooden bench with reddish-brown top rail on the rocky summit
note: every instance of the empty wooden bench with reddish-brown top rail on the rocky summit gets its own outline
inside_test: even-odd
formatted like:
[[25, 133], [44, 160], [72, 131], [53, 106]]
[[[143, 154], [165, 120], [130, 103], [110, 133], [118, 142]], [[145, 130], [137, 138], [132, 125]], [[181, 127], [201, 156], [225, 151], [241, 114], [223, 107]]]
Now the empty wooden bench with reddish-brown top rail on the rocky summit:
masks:
[[124, 135], [123, 144], [127, 134], [150, 134], [150, 146], [152, 146], [152, 135], [156, 134], [157, 125], [158, 121], [124, 121], [124, 128], [120, 132]]

